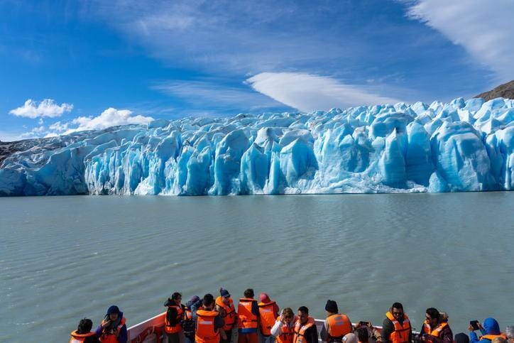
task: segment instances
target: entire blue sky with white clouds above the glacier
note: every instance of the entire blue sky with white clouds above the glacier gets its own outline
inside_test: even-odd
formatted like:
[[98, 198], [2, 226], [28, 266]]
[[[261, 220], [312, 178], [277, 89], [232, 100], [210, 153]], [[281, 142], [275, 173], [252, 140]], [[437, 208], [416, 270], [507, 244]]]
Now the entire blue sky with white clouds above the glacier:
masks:
[[514, 1], [0, 1], [0, 140], [181, 116], [469, 98]]

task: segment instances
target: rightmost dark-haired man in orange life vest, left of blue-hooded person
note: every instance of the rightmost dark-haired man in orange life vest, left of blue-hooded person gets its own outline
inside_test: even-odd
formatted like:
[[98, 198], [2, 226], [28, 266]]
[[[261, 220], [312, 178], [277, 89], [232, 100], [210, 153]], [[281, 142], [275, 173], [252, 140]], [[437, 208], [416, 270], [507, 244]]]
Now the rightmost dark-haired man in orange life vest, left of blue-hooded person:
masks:
[[452, 343], [454, 334], [448, 325], [448, 320], [434, 307], [425, 311], [425, 322], [421, 327], [417, 341], [427, 343]]

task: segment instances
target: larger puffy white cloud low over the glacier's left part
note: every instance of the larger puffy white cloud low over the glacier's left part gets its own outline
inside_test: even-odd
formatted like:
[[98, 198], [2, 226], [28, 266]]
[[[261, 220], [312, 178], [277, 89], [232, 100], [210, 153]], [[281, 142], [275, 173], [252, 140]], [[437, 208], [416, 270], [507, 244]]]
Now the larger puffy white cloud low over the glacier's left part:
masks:
[[[84, 130], [102, 130], [109, 126], [148, 124], [151, 121], [153, 121], [151, 116], [132, 116], [132, 111], [128, 109], [114, 109], [110, 107], [103, 111], [99, 116], [79, 116], [78, 118], [73, 119], [72, 124], [78, 124], [79, 126], [74, 129], [68, 129], [65, 134]], [[63, 124], [60, 125], [62, 126]], [[56, 126], [56, 128], [57, 127], [58, 126]]]

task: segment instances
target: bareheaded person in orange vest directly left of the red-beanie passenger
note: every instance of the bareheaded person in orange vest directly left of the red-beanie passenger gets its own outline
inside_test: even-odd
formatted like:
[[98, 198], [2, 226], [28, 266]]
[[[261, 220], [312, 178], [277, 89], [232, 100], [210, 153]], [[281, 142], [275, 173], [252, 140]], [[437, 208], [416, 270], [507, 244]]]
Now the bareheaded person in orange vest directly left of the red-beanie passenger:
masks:
[[244, 298], [239, 299], [239, 304], [237, 305], [238, 343], [258, 342], [259, 309], [257, 300], [253, 299], [253, 295], [253, 289], [248, 288], [244, 291]]

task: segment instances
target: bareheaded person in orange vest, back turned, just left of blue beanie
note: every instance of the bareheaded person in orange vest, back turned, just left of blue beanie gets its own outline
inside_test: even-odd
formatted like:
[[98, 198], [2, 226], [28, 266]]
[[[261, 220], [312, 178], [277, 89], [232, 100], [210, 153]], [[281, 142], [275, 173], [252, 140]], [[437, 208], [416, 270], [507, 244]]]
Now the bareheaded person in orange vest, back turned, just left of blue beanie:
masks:
[[212, 294], [204, 295], [202, 307], [192, 313], [195, 320], [195, 342], [196, 343], [219, 343], [221, 339], [226, 340], [223, 330], [224, 320], [219, 312], [214, 310], [214, 297]]

